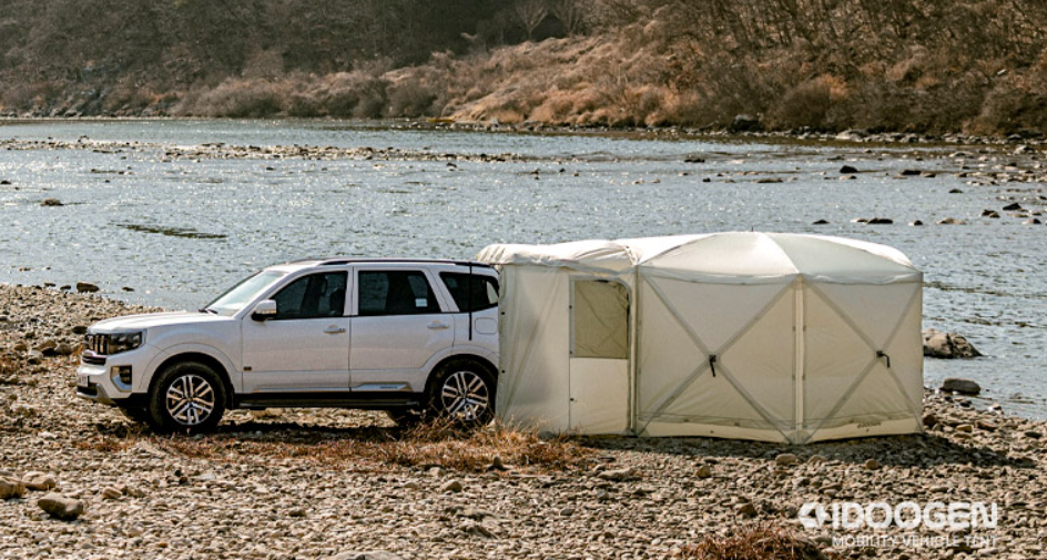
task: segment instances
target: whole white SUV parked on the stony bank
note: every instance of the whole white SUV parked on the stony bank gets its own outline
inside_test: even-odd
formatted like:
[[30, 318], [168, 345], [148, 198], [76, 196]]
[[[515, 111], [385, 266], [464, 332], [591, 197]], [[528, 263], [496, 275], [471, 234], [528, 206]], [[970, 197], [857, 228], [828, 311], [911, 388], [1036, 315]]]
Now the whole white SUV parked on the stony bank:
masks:
[[333, 258], [271, 266], [196, 313], [88, 329], [77, 395], [162, 431], [230, 408], [345, 407], [491, 418], [498, 276], [458, 261]]

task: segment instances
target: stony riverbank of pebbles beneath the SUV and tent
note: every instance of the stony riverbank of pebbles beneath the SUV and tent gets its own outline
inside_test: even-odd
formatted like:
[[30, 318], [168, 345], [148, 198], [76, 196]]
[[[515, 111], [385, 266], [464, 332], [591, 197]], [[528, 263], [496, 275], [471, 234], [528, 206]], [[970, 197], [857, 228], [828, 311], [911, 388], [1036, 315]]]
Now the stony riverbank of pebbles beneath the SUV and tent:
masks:
[[[583, 459], [562, 465], [495, 456], [480, 469], [439, 457], [411, 464], [364, 452], [401, 437], [370, 413], [235, 413], [215, 436], [151, 436], [73, 396], [75, 354], [30, 355], [42, 340], [74, 346], [91, 322], [141, 308], [0, 286], [0, 475], [39, 488], [0, 500], [4, 559], [283, 560], [359, 550], [419, 560], [667, 558], [760, 522], [844, 558], [1047, 557], [1047, 424], [952, 395], [928, 391], [922, 436], [806, 447], [578, 438], [546, 444], [573, 446], [563, 449]], [[82, 513], [52, 517], [38, 505], [45, 491], [57, 496], [44, 506], [65, 515], [72, 499]], [[845, 532], [797, 520], [806, 502], [876, 501], [996, 503], [998, 527]], [[870, 534], [897, 539], [838, 540]]]

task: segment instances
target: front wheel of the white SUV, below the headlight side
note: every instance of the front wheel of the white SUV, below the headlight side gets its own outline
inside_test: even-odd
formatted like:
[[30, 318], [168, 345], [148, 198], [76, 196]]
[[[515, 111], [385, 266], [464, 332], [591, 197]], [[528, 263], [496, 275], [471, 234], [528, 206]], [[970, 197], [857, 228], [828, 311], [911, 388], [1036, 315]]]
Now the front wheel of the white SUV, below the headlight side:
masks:
[[205, 434], [214, 430], [223, 414], [225, 384], [204, 364], [174, 364], [150, 389], [149, 420], [156, 431]]

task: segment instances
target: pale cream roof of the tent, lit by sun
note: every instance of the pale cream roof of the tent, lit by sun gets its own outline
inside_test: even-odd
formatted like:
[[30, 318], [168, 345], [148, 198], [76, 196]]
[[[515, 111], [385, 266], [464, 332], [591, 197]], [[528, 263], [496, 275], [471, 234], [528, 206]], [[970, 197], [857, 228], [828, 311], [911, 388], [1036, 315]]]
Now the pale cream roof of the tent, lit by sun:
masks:
[[624, 272], [709, 282], [746, 282], [803, 275], [831, 282], [918, 281], [899, 251], [856, 240], [787, 233], [726, 232], [702, 235], [580, 241], [553, 245], [489, 245], [478, 255], [491, 264]]

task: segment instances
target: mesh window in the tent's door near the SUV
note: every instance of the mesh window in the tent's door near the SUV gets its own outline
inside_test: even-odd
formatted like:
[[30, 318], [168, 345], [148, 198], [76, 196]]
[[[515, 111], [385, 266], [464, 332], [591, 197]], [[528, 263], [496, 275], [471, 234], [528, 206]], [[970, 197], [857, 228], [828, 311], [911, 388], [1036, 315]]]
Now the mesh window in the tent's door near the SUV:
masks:
[[629, 293], [617, 282], [576, 281], [572, 297], [576, 358], [629, 356]]

